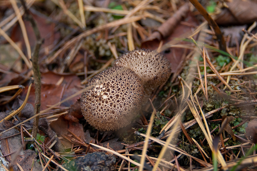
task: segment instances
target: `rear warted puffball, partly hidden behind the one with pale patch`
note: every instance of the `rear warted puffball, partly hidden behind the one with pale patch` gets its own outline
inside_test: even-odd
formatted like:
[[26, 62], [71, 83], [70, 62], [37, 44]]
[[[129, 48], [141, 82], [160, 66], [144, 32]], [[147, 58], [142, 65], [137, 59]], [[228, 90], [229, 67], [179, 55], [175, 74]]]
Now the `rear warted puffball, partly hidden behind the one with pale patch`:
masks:
[[165, 83], [171, 74], [170, 62], [160, 53], [140, 49], [123, 54], [114, 62], [114, 66], [128, 67], [143, 82], [144, 102], [148, 101], [152, 91]]

